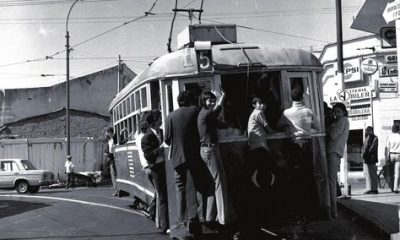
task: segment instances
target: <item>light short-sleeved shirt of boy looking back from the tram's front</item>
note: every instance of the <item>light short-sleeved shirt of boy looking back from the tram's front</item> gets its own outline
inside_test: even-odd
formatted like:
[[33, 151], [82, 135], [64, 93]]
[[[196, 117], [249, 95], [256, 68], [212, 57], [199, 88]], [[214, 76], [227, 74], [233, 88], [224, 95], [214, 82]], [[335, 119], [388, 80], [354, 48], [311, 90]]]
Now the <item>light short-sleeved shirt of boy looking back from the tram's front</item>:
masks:
[[249, 122], [247, 124], [249, 150], [257, 148], [265, 148], [269, 150], [267, 145], [267, 133], [265, 128], [268, 122], [262, 111], [254, 109], [250, 114]]

